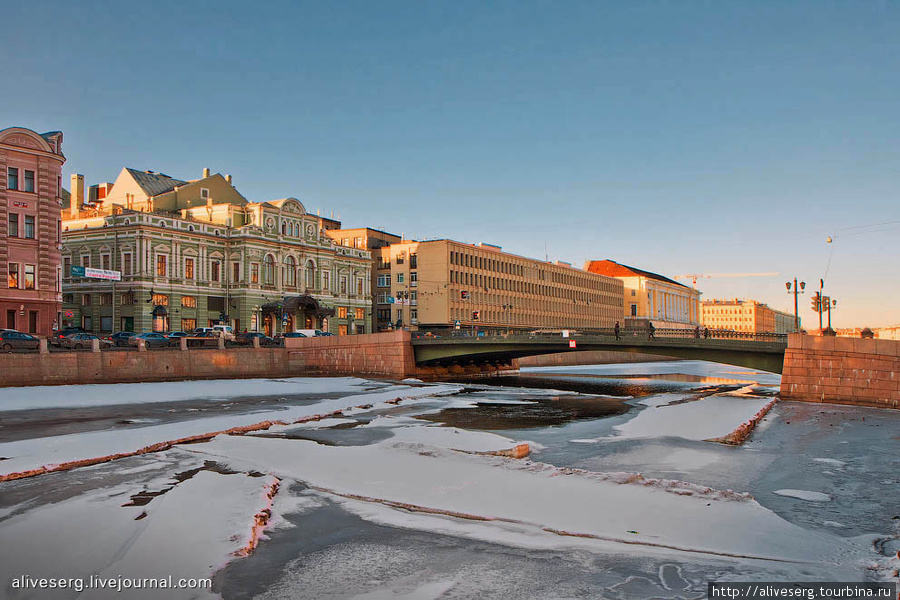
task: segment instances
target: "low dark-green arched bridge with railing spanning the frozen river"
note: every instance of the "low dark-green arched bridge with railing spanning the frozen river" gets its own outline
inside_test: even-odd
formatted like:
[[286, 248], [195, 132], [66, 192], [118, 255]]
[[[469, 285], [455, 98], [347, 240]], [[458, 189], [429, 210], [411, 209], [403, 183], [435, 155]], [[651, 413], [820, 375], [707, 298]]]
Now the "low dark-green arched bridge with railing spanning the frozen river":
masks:
[[511, 332], [493, 335], [453, 333], [455, 335], [448, 336], [446, 333], [414, 332], [411, 341], [416, 364], [504, 365], [523, 356], [606, 350], [708, 360], [781, 373], [787, 349], [786, 334], [711, 332], [709, 337], [700, 337], [693, 329], [657, 329], [652, 337], [646, 330], [623, 330], [618, 339], [612, 331], [578, 332], [569, 337], [563, 337], [561, 332]]

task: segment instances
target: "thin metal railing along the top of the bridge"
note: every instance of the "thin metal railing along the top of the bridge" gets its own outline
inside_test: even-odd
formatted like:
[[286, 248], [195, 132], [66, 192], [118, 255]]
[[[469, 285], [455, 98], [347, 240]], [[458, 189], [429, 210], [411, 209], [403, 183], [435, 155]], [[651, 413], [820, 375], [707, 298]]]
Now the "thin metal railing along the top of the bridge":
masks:
[[[560, 331], [473, 331], [469, 329], [446, 330], [420, 329], [412, 332], [413, 341], [425, 340], [472, 340], [472, 341], [498, 341], [498, 340], [541, 340], [541, 341], [561, 341], [564, 339], [573, 340], [598, 340], [598, 341], [615, 341], [616, 332], [613, 328], [606, 329], [571, 329], [568, 330], [568, 337], [564, 338], [562, 330]], [[661, 340], [661, 339], [715, 339], [715, 340], [747, 340], [756, 342], [776, 342], [787, 344], [786, 333], [753, 333], [747, 331], [728, 331], [703, 329], [663, 329], [658, 328], [652, 332], [648, 329], [620, 329], [618, 335], [620, 341], [629, 342], [637, 340]]]

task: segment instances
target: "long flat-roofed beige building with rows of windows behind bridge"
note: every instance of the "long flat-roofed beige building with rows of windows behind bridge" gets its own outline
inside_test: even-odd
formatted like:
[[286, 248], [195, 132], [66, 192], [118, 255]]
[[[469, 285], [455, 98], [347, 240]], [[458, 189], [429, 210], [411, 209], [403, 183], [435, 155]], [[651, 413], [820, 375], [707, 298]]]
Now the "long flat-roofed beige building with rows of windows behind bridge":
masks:
[[373, 251], [376, 330], [609, 328], [623, 319], [622, 282], [453, 240]]

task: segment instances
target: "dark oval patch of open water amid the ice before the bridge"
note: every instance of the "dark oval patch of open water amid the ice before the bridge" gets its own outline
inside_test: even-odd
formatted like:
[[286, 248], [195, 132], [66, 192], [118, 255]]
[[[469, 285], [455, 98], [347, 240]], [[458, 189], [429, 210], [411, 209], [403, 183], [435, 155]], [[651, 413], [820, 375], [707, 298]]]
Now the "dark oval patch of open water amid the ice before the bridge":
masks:
[[478, 403], [471, 408], [447, 408], [418, 418], [462, 429], [528, 429], [562, 425], [577, 419], [599, 419], [628, 412], [623, 399], [561, 395], [523, 397], [528, 404]]

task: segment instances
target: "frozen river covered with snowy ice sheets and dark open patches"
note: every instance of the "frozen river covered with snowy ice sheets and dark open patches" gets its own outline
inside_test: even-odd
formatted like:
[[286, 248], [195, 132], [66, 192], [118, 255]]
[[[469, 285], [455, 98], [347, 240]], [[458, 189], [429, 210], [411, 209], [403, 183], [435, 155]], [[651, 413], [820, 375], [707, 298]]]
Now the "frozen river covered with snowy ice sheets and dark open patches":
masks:
[[[777, 402], [743, 444], [710, 441], [778, 383], [681, 361], [434, 385], [0, 389], [0, 475], [89, 464], [0, 483], [0, 597], [705, 598], [707, 581], [896, 581], [900, 412]], [[494, 455], [521, 443], [526, 458]], [[118, 458], [90, 464], [102, 457]], [[24, 575], [213, 586], [79, 595], [14, 586]]]

